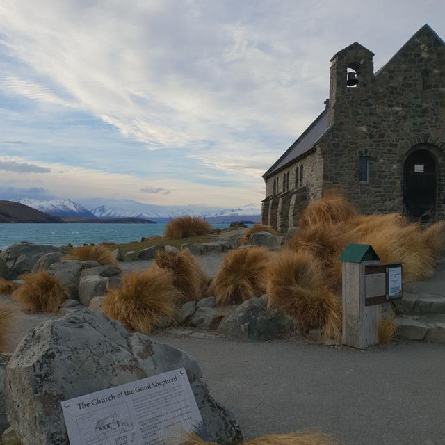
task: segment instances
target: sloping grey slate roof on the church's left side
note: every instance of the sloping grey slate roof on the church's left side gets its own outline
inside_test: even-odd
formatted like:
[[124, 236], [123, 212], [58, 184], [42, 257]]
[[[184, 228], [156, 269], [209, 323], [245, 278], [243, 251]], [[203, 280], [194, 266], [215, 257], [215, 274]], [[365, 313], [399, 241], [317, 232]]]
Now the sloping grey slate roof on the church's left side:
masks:
[[272, 165], [272, 167], [270, 167], [269, 170], [264, 173], [263, 177], [266, 178], [273, 175], [275, 172], [312, 149], [312, 147], [314, 147], [328, 128], [327, 109], [325, 109], [320, 115], [318, 115], [316, 120], [314, 120], [314, 122], [312, 122], [312, 124], [310, 124], [309, 127], [307, 127], [303, 133], [301, 133], [300, 137], [288, 149], [286, 149], [286, 152], [284, 152], [284, 154]]

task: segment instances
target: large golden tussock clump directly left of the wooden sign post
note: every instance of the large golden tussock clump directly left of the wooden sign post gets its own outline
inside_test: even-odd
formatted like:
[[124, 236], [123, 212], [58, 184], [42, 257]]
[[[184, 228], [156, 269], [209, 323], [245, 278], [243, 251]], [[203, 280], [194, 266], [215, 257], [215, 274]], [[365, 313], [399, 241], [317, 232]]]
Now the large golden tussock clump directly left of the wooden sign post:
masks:
[[324, 280], [323, 267], [313, 254], [283, 250], [268, 270], [268, 307], [291, 316], [302, 332], [321, 327], [323, 339], [339, 341], [340, 303]]

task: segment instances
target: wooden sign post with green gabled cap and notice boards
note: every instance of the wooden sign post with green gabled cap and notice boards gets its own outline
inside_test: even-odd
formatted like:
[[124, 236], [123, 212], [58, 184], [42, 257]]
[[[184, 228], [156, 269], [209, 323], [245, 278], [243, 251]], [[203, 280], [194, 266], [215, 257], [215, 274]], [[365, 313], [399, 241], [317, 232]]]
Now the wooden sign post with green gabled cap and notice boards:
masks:
[[381, 264], [369, 244], [348, 244], [342, 266], [342, 338], [353, 348], [378, 344], [380, 304], [402, 296], [401, 264]]

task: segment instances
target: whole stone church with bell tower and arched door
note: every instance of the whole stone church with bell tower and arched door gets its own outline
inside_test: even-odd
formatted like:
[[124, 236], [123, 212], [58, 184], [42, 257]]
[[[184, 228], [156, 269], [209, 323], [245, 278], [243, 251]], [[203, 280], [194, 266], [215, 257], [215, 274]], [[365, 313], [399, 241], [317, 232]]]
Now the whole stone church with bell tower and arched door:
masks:
[[339, 189], [362, 213], [445, 218], [445, 42], [428, 24], [380, 68], [355, 42], [330, 60], [325, 109], [264, 173], [280, 231]]

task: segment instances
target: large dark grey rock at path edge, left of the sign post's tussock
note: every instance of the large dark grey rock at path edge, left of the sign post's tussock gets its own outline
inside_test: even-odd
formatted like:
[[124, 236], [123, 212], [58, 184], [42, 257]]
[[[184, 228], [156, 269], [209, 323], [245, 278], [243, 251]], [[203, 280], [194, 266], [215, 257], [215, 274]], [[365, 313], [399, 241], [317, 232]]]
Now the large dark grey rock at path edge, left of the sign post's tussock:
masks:
[[268, 312], [264, 301], [250, 298], [236, 307], [218, 327], [218, 334], [244, 341], [266, 341], [285, 337], [295, 323], [282, 312]]

